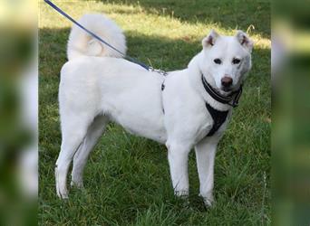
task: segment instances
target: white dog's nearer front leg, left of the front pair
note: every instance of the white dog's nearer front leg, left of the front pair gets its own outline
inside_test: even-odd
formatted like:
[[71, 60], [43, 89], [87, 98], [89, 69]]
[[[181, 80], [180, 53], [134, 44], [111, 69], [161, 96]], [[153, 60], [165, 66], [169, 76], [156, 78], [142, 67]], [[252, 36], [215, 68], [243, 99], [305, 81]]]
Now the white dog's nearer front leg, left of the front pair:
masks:
[[189, 195], [188, 146], [167, 142], [170, 174], [174, 193], [180, 197]]

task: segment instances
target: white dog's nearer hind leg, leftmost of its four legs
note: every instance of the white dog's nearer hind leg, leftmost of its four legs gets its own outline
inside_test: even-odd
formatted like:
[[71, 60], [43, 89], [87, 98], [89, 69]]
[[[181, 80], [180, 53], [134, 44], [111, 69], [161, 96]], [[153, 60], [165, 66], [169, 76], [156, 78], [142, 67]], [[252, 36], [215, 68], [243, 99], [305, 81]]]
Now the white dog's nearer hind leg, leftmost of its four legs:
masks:
[[55, 166], [56, 192], [60, 198], [68, 198], [67, 174], [73, 155], [82, 145], [91, 116], [74, 112], [62, 115], [62, 146]]

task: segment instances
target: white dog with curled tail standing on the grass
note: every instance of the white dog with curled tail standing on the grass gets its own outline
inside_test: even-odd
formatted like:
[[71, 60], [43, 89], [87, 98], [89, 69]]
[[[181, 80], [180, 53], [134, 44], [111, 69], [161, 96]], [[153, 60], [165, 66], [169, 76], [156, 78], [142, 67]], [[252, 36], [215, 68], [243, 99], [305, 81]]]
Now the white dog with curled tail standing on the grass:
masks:
[[[84, 15], [80, 23], [126, 52], [125, 37], [110, 19]], [[141, 137], [165, 144], [173, 189], [189, 194], [188, 156], [195, 147], [200, 195], [213, 201], [213, 168], [218, 141], [251, 68], [253, 42], [246, 33], [211, 31], [188, 68], [165, 77], [126, 61], [121, 54], [73, 26], [59, 88], [63, 142], [55, 177], [61, 198], [73, 160], [72, 184], [82, 187], [82, 171], [106, 125], [113, 121]]]

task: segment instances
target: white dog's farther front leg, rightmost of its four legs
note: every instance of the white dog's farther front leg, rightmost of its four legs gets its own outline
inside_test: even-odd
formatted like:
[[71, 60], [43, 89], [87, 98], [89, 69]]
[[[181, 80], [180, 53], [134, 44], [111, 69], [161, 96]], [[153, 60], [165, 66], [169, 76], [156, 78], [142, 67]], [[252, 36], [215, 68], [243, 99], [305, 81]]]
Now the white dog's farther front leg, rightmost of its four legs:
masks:
[[208, 137], [201, 140], [195, 146], [197, 168], [199, 172], [200, 196], [203, 197], [207, 206], [211, 206], [214, 184], [214, 160], [218, 143], [208, 140]]

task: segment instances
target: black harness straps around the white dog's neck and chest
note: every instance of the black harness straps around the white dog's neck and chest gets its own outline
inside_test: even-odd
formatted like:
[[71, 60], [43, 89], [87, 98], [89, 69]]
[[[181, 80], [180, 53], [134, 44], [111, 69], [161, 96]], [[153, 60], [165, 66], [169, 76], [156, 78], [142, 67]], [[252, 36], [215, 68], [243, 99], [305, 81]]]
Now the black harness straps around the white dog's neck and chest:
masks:
[[[222, 104], [228, 104], [232, 106], [233, 108], [237, 107], [238, 100], [242, 93], [242, 85], [240, 86], [239, 89], [237, 89], [237, 91], [234, 91], [231, 94], [229, 94], [229, 96], [225, 97], [225, 96], [220, 95], [217, 90], [213, 89], [213, 87], [210, 84], [208, 84], [208, 81], [205, 79], [203, 74], [201, 74], [201, 80], [202, 80], [203, 87], [206, 89], [208, 94], [213, 99], [217, 100], [218, 102]], [[206, 108], [208, 110], [208, 113], [210, 113], [211, 118], [213, 119], [213, 126], [207, 135], [207, 137], [211, 137], [218, 131], [218, 128], [221, 127], [223, 123], [226, 121], [226, 118], [228, 117], [228, 110], [225, 110], [225, 111], [218, 110], [216, 108], [211, 107], [208, 104], [208, 102], [206, 102]]]

